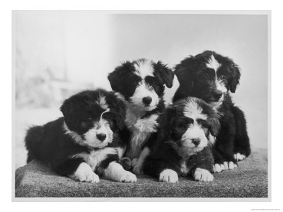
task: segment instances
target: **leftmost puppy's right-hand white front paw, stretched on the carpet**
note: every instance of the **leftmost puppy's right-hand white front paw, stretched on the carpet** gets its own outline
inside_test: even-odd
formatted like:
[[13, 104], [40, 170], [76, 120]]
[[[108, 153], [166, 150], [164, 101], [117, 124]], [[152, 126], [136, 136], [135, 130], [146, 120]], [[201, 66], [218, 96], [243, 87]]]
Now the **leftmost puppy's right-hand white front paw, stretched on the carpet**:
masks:
[[122, 165], [116, 162], [109, 163], [104, 170], [104, 175], [107, 179], [112, 179], [117, 182], [136, 182], [136, 175], [123, 169]]

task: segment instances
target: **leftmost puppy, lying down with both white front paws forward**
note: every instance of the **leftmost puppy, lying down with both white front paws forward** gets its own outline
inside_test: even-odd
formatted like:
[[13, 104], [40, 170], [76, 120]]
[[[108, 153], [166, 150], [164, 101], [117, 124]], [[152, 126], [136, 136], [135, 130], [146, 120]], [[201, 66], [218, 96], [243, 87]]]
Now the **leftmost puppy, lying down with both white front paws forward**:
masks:
[[86, 90], [65, 100], [60, 110], [64, 117], [28, 129], [28, 163], [40, 160], [80, 182], [99, 182], [98, 175], [117, 182], [137, 181], [117, 163], [125, 150], [119, 135], [126, 115], [122, 100], [103, 89]]

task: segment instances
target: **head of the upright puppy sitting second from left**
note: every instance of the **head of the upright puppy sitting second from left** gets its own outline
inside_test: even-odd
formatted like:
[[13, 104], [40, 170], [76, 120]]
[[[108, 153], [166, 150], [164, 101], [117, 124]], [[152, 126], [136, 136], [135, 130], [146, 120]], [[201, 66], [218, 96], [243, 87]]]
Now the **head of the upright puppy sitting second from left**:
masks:
[[112, 90], [139, 110], [154, 110], [162, 100], [164, 85], [171, 88], [174, 73], [161, 61], [147, 59], [125, 62], [109, 74]]

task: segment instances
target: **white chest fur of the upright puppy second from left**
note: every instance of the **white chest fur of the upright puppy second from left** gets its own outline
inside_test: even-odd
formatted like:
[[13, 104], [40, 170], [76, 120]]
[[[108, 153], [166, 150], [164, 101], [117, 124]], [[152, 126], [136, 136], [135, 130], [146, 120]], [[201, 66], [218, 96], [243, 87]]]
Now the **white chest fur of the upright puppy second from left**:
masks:
[[141, 147], [149, 139], [150, 134], [157, 131], [156, 119], [158, 115], [152, 114], [144, 119], [141, 119], [141, 115], [141, 112], [127, 110], [125, 123], [132, 136], [125, 155], [131, 159], [139, 157]]

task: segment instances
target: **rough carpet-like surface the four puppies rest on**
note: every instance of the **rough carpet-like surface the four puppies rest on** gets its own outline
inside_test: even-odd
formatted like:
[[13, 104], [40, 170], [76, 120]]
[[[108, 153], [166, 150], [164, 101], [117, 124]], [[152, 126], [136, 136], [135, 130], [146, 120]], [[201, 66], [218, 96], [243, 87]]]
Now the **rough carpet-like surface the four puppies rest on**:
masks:
[[253, 149], [236, 170], [214, 174], [213, 182], [180, 178], [177, 184], [158, 182], [145, 175], [134, 183], [75, 182], [32, 161], [16, 170], [16, 197], [268, 197], [267, 151]]

